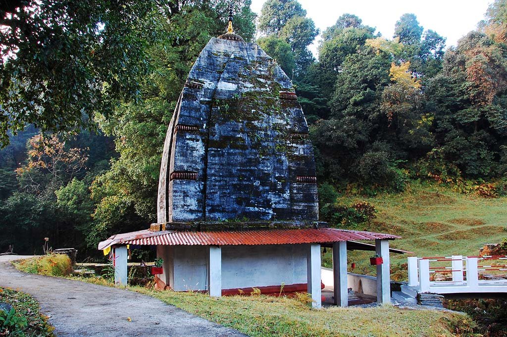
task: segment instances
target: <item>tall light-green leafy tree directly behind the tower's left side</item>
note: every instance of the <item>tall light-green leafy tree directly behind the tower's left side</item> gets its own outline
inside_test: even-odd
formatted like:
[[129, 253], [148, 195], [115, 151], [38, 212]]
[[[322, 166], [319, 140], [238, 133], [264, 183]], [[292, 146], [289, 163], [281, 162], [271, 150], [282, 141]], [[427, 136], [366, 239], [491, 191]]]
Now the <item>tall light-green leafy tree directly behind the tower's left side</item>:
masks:
[[[156, 221], [156, 198], [164, 139], [172, 111], [190, 68], [210, 38], [224, 33], [228, 4], [180, 2], [177, 11], [153, 19], [167, 38], [147, 49], [150, 68], [141, 81], [140, 102], [118, 106], [112, 116], [98, 117], [100, 128], [115, 138], [118, 158], [91, 187], [96, 203], [88, 242], [144, 229]], [[245, 41], [255, 32], [250, 1], [237, 1], [234, 29]]]

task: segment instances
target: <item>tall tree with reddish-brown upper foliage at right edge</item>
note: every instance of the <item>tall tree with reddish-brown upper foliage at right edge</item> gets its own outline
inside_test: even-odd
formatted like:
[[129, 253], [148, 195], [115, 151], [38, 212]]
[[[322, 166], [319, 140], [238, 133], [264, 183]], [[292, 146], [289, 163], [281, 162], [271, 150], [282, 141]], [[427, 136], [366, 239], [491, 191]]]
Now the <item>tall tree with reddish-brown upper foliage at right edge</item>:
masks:
[[493, 165], [507, 136], [507, 50], [493, 35], [470, 32], [446, 53], [444, 69], [427, 86], [439, 147], [432, 156], [465, 177], [504, 173]]

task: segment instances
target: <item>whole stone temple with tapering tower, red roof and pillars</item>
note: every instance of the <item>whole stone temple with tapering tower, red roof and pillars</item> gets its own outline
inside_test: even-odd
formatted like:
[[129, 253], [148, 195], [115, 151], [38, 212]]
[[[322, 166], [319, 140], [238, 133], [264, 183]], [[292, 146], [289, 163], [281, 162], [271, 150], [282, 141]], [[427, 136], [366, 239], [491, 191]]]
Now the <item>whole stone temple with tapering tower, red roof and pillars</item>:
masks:
[[155, 245], [159, 289], [220, 296], [252, 287], [278, 294], [283, 285], [320, 307], [323, 245], [334, 250], [335, 303], [347, 305], [347, 241], [375, 240], [384, 257], [379, 300], [389, 301], [387, 240], [397, 237], [318, 221], [313, 150], [292, 81], [231, 22], [190, 70], [167, 130], [157, 202], [149, 230], [99, 244], [114, 248], [119, 283], [127, 282], [126, 246]]

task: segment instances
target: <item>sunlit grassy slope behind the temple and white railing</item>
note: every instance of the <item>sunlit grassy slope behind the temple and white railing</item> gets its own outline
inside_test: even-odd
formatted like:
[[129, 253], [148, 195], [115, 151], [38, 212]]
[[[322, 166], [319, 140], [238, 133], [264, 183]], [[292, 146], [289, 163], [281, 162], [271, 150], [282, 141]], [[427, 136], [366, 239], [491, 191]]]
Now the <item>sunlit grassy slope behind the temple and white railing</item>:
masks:
[[[413, 256], [477, 255], [484, 244], [507, 237], [507, 198], [486, 199], [414, 183], [401, 194], [341, 197], [337, 202], [348, 205], [357, 201], [367, 201], [379, 211], [371, 223], [358, 229], [400, 235], [402, 239], [390, 246], [412, 251]], [[374, 275], [370, 255], [372, 252], [350, 253], [349, 263], [357, 266], [353, 272]], [[396, 264], [407, 262], [407, 256], [391, 254], [394, 272]], [[331, 261], [331, 252], [325, 253], [324, 267], [331, 268]]]

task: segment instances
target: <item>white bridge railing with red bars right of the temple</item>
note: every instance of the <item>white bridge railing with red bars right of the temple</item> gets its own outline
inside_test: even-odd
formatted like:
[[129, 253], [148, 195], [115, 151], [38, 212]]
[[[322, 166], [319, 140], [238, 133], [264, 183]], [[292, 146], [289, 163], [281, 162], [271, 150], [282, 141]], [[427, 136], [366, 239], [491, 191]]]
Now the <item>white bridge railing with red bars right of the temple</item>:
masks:
[[[503, 264], [493, 263], [500, 260]], [[481, 261], [481, 265], [478, 262]], [[436, 267], [430, 263], [437, 262]], [[450, 262], [450, 266], [448, 265]], [[464, 263], [464, 264], [463, 264]], [[507, 271], [507, 256], [440, 256], [440, 257], [409, 257], [409, 286], [419, 292], [457, 293], [457, 292], [507, 292], [507, 279], [495, 275], [493, 279], [479, 277], [480, 272]], [[452, 277], [443, 277], [451, 274]], [[438, 280], [431, 276], [440, 275]], [[449, 279], [450, 278], [450, 279]]]

